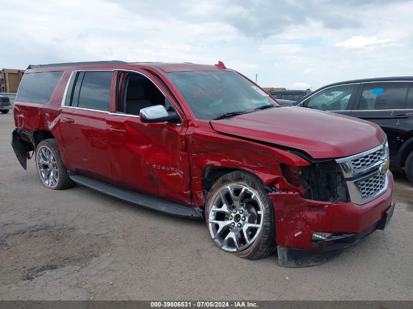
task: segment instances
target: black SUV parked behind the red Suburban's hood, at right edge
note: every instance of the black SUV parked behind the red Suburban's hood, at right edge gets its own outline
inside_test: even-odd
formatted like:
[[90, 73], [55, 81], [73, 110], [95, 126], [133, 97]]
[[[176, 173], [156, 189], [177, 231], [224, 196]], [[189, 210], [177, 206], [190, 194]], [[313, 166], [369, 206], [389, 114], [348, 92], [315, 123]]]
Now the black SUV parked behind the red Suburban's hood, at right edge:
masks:
[[336, 82], [293, 105], [331, 111], [378, 124], [387, 134], [391, 168], [405, 168], [413, 184], [413, 77]]

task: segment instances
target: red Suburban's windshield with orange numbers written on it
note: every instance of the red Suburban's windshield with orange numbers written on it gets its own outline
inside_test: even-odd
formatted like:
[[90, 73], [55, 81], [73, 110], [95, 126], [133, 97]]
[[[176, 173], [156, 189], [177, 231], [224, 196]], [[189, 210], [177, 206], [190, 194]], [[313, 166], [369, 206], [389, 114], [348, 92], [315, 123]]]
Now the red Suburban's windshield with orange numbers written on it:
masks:
[[[196, 118], [212, 120], [230, 113], [246, 113], [279, 106], [268, 94], [236, 72], [191, 71], [168, 73]], [[224, 116], [225, 117], [225, 116]]]

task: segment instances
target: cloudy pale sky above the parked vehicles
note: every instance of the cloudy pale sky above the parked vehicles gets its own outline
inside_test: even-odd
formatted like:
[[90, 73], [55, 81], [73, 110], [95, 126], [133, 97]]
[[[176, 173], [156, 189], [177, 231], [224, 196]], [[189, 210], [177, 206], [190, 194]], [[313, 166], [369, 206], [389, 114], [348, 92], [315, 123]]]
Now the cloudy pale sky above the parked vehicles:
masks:
[[413, 75], [413, 1], [0, 0], [0, 68], [218, 60], [263, 87]]

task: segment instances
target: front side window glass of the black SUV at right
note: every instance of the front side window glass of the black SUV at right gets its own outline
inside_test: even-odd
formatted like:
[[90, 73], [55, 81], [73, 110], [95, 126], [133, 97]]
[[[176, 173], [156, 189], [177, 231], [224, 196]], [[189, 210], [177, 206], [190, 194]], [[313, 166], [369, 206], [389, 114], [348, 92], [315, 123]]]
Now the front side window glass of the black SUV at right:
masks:
[[355, 87], [352, 84], [327, 88], [313, 95], [306, 107], [327, 111], [350, 110], [348, 102]]

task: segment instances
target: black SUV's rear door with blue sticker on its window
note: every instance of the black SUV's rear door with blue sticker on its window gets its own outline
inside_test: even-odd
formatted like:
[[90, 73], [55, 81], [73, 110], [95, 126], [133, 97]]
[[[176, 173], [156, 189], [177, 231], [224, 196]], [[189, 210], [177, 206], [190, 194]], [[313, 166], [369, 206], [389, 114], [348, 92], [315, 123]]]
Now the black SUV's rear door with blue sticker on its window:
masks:
[[391, 156], [397, 155], [403, 135], [412, 129], [413, 114], [406, 109], [409, 87], [411, 82], [363, 83], [353, 108], [354, 117], [378, 124], [385, 131]]

